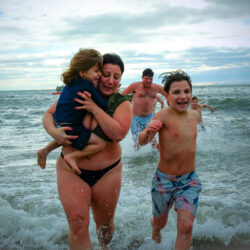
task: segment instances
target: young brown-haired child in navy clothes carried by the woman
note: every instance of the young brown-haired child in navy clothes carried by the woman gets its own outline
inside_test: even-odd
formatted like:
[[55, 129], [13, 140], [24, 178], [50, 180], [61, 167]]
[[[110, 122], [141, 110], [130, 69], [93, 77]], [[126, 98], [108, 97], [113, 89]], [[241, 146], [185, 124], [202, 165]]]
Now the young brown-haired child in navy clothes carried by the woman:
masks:
[[[83, 126], [83, 118], [87, 112], [76, 110], [80, 104], [74, 101], [75, 98], [79, 98], [77, 92], [88, 91], [98, 106], [103, 110], [107, 109], [108, 100], [103, 99], [96, 89], [101, 76], [102, 61], [102, 55], [98, 51], [80, 49], [72, 58], [68, 70], [62, 74], [62, 80], [66, 86], [57, 102], [54, 120], [58, 127], [70, 126], [72, 128], [66, 131], [67, 134], [78, 136], [77, 139], [72, 140], [71, 144], [77, 150], [64, 156], [65, 161], [77, 174], [81, 174], [77, 167], [77, 159], [95, 154], [105, 146], [103, 139]], [[88, 118], [91, 122], [91, 117]], [[37, 162], [42, 169], [45, 168], [48, 153], [59, 146], [61, 145], [54, 140], [37, 152]]]

